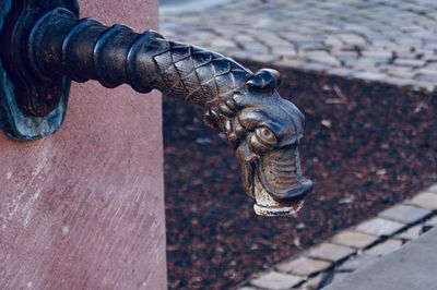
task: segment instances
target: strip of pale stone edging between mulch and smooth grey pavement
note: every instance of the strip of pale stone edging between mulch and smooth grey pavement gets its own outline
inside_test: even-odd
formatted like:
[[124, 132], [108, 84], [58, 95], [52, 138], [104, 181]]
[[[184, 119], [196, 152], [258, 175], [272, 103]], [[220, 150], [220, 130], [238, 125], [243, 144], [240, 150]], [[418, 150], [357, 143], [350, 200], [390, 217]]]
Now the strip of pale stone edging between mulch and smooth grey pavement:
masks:
[[321, 289], [437, 227], [437, 183], [373, 219], [260, 273], [239, 290]]

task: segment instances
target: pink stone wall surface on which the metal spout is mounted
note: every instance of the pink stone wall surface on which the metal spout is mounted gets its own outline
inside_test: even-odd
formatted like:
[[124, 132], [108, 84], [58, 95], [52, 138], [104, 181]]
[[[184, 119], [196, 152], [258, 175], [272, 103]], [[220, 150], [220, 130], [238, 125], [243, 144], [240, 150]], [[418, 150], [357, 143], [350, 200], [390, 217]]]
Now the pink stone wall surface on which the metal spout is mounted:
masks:
[[[137, 31], [156, 0], [83, 0]], [[165, 289], [161, 95], [74, 84], [62, 129], [0, 134], [0, 289]]]

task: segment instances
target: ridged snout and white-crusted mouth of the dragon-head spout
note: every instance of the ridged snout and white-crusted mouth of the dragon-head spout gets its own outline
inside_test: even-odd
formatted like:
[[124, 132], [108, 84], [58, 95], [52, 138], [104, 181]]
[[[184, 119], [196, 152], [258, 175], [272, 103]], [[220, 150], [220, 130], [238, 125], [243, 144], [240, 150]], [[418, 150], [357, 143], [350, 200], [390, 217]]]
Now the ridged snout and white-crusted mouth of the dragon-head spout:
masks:
[[302, 176], [297, 146], [286, 146], [262, 156], [240, 147], [237, 155], [241, 160], [243, 184], [257, 200], [255, 212], [258, 215], [293, 215], [300, 209], [312, 182]]

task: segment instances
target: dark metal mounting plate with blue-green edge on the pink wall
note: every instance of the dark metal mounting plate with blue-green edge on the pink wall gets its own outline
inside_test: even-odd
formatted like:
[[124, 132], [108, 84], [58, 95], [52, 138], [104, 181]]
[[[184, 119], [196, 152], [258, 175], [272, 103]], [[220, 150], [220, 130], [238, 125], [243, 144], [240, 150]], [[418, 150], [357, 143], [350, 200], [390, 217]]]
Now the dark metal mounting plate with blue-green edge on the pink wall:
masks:
[[[68, 76], [37, 80], [26, 61], [27, 35], [42, 11], [54, 3], [55, 0], [0, 0], [0, 128], [13, 138], [50, 135], [64, 119]], [[75, 0], [56, 0], [56, 4], [79, 14]]]

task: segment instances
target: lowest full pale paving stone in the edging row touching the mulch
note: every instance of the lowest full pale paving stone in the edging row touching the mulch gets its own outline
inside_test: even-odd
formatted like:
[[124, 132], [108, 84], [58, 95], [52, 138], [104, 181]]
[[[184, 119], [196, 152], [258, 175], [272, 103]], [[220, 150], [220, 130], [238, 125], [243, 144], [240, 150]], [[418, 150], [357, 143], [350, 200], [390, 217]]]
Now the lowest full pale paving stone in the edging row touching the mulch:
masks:
[[304, 278], [277, 271], [267, 273], [250, 281], [255, 287], [269, 290], [290, 289], [304, 281]]

